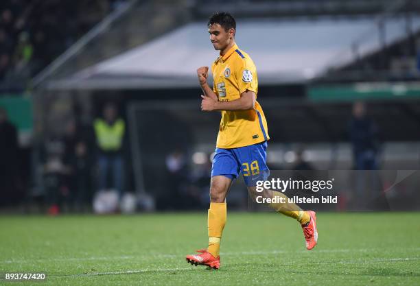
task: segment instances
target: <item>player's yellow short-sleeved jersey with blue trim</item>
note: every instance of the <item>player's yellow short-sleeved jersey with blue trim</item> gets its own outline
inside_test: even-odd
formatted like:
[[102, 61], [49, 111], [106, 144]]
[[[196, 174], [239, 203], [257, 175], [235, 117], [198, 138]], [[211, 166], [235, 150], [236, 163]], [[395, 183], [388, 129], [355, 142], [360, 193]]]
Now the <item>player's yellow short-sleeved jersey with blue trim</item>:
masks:
[[[234, 45], [211, 65], [213, 91], [220, 102], [239, 99], [245, 91], [257, 96], [257, 69], [247, 53]], [[268, 141], [266, 117], [258, 102], [251, 110], [223, 110], [216, 147], [230, 149]]]

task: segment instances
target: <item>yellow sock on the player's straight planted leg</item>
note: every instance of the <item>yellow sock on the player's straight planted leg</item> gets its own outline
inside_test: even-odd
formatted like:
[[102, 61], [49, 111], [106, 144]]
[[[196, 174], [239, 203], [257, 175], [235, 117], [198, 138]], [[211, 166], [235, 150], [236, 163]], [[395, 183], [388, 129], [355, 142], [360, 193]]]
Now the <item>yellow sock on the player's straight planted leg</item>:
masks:
[[222, 238], [223, 228], [226, 224], [226, 202], [211, 202], [207, 228], [209, 230], [209, 247], [207, 251], [218, 257], [220, 253], [220, 239]]

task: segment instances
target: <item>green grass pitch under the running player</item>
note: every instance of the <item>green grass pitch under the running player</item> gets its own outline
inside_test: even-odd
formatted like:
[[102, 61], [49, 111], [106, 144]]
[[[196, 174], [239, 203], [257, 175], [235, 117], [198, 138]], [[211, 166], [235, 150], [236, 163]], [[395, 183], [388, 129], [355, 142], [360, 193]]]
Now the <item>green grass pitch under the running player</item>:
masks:
[[277, 213], [229, 213], [222, 267], [192, 266], [207, 214], [1, 216], [0, 285], [420, 285], [420, 213], [318, 213], [318, 246]]

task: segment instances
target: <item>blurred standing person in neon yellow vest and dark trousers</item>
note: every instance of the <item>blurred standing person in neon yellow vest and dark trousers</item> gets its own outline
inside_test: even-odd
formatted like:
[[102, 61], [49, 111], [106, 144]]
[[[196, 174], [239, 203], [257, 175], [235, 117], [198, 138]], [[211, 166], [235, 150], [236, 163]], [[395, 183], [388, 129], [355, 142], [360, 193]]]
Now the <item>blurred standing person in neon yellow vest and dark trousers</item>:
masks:
[[104, 118], [95, 119], [95, 129], [98, 152], [97, 165], [99, 167], [98, 186], [100, 190], [107, 189], [107, 174], [111, 169], [113, 187], [119, 196], [124, 188], [124, 160], [123, 141], [126, 123], [118, 117], [117, 108], [108, 103], [104, 107]]

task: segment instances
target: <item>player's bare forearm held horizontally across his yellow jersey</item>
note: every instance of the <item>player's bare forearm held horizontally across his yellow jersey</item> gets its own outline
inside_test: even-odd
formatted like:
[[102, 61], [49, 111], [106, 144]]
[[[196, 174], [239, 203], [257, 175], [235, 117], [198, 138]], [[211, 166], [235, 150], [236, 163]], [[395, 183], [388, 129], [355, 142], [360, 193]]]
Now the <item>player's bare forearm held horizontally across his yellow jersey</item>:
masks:
[[206, 95], [201, 95], [201, 110], [202, 111], [222, 111], [222, 110], [250, 110], [255, 108], [256, 96], [253, 91], [244, 91], [241, 97], [231, 102], [219, 102], [218, 99], [213, 99]]

